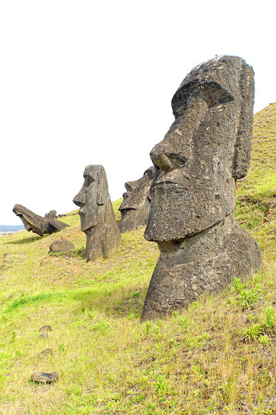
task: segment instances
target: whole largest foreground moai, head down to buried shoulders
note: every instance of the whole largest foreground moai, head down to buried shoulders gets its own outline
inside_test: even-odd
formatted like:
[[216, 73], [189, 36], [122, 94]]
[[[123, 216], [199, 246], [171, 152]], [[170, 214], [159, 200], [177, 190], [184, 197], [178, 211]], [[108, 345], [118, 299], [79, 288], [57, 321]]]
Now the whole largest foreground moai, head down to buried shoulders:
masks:
[[250, 163], [253, 101], [253, 68], [235, 56], [197, 66], [173, 96], [175, 122], [150, 152], [157, 171], [144, 237], [158, 243], [160, 257], [141, 320], [259, 268], [259, 246], [234, 216], [235, 183]]

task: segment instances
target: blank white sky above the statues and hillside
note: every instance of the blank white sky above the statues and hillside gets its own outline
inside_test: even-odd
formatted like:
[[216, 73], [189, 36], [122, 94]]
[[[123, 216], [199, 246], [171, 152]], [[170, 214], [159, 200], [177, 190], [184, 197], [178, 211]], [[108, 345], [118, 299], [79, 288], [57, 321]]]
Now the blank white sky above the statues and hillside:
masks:
[[177, 87], [215, 55], [253, 66], [255, 112], [275, 102], [275, 12], [275, 0], [0, 0], [0, 223], [21, 223], [15, 203], [77, 208], [88, 164], [119, 199], [150, 167]]

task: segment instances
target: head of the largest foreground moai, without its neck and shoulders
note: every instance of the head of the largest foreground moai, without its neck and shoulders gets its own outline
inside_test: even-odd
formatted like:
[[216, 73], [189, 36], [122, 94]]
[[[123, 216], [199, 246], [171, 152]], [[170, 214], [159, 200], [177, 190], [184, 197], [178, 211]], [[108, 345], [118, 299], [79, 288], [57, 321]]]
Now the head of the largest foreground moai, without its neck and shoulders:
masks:
[[175, 122], [150, 152], [148, 241], [184, 239], [233, 212], [235, 181], [250, 163], [253, 101], [253, 68], [240, 57], [188, 73], [172, 98]]

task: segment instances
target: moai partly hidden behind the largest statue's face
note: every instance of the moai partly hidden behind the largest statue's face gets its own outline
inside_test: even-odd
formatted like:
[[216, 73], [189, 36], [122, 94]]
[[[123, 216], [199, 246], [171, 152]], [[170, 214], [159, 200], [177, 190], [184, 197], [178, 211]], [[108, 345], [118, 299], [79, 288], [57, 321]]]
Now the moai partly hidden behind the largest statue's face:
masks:
[[154, 173], [155, 167], [152, 166], [139, 180], [125, 183], [126, 193], [123, 194], [124, 201], [119, 207], [121, 233], [146, 225], [150, 211], [149, 192]]

